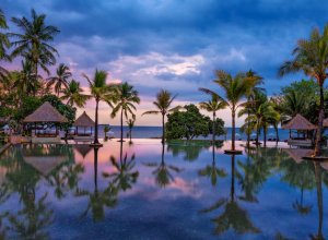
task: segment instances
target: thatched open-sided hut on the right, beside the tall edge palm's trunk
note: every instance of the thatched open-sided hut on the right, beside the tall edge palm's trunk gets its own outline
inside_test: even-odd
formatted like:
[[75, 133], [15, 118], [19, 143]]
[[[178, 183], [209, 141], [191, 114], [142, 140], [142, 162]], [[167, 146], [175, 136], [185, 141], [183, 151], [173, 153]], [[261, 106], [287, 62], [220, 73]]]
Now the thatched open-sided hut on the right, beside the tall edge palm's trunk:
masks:
[[303, 116], [296, 115], [286, 124], [283, 124], [282, 129], [290, 130], [290, 139], [288, 141], [289, 145], [312, 146], [313, 142], [311, 137], [313, 135], [313, 131], [316, 130], [317, 127], [311, 123]]

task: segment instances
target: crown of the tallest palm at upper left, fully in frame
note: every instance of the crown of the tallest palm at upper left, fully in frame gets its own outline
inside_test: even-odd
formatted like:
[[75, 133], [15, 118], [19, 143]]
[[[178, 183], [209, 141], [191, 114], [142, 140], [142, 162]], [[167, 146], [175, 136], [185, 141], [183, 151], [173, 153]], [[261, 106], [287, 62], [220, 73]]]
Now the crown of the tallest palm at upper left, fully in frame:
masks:
[[32, 61], [33, 73], [38, 74], [38, 67], [49, 74], [47, 65], [56, 64], [57, 50], [50, 45], [54, 37], [59, 33], [56, 26], [46, 25], [46, 15], [38, 15], [32, 10], [32, 20], [12, 17], [12, 22], [22, 33], [9, 33], [14, 40], [11, 43], [14, 49], [12, 57], [24, 56]]

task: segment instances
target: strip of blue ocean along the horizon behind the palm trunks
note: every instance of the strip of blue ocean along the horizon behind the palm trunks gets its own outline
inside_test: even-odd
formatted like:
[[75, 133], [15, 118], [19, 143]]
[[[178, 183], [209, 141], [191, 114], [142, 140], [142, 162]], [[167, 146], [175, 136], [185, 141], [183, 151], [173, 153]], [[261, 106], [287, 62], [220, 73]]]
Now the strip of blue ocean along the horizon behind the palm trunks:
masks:
[[[99, 137], [104, 137], [104, 125], [98, 127], [99, 131]], [[120, 137], [120, 127], [119, 125], [112, 125], [110, 131], [114, 132], [112, 135], [115, 137]], [[128, 128], [124, 127], [124, 136], [127, 136]], [[232, 136], [232, 128], [226, 128], [227, 134], [216, 136], [218, 140], [231, 140]], [[279, 139], [280, 141], [284, 141], [289, 139], [289, 131], [279, 129], [278, 130]], [[255, 135], [255, 133], [254, 133]], [[162, 136], [162, 127], [134, 127], [132, 129], [132, 139], [152, 139], [152, 137], [161, 137]], [[273, 139], [276, 137], [274, 129], [269, 129], [267, 139]], [[198, 137], [198, 139], [211, 139], [211, 135], [208, 135], [207, 137]], [[236, 140], [246, 140], [246, 134], [241, 133], [239, 128], [236, 128]], [[262, 140], [262, 134], [260, 135], [260, 140]]]

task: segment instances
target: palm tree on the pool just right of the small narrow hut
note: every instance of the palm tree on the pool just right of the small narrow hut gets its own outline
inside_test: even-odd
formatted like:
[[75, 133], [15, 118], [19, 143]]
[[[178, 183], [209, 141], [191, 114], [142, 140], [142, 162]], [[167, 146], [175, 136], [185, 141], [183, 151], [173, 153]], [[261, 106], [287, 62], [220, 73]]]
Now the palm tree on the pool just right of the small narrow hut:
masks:
[[94, 131], [94, 143], [93, 145], [101, 145], [98, 140], [98, 105], [99, 101], [106, 101], [109, 106], [113, 100], [113, 86], [106, 84], [107, 73], [105, 71], [96, 70], [93, 80], [90, 80], [87, 75], [83, 76], [89, 82], [91, 95], [96, 101], [95, 108], [95, 131]]

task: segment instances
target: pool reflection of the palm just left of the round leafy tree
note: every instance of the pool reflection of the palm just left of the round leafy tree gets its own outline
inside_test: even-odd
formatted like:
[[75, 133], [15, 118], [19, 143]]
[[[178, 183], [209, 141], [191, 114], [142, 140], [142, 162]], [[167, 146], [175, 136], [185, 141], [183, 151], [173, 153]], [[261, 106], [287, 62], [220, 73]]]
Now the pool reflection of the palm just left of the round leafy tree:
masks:
[[176, 173], [179, 173], [180, 171], [183, 171], [181, 168], [175, 167], [173, 165], [166, 165], [165, 157], [164, 157], [164, 153], [165, 153], [164, 148], [165, 148], [165, 143], [162, 143], [161, 164], [156, 164], [156, 163], [144, 164], [148, 167], [155, 168], [152, 173], [155, 176], [156, 184], [161, 188], [165, 188], [166, 185], [168, 185], [171, 182], [174, 181], [174, 177], [172, 173], [173, 171]]

